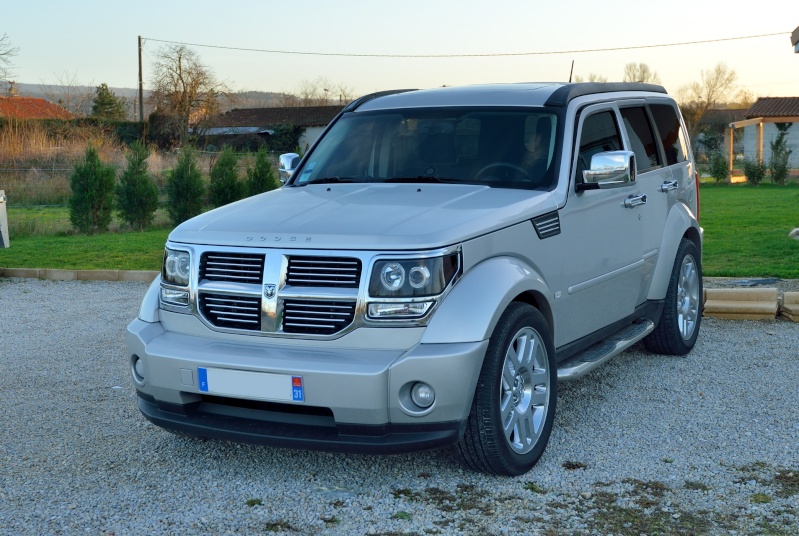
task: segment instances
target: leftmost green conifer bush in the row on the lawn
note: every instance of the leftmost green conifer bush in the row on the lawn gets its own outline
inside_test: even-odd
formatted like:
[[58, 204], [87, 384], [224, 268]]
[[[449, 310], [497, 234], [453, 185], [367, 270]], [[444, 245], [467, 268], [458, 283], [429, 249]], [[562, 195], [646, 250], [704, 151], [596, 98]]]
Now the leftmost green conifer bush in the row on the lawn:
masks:
[[80, 233], [108, 231], [114, 206], [116, 168], [103, 164], [97, 149], [86, 148], [83, 160], [75, 163], [69, 179], [69, 221]]

